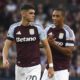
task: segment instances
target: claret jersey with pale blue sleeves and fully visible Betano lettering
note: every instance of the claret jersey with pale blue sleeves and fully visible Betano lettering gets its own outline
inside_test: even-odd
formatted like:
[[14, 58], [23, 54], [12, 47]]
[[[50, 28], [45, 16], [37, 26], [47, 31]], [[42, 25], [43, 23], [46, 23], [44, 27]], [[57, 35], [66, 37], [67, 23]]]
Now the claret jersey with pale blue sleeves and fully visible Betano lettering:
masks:
[[17, 65], [29, 67], [40, 63], [40, 40], [46, 39], [46, 34], [40, 25], [21, 25], [21, 22], [12, 24], [7, 39], [14, 40], [17, 48]]

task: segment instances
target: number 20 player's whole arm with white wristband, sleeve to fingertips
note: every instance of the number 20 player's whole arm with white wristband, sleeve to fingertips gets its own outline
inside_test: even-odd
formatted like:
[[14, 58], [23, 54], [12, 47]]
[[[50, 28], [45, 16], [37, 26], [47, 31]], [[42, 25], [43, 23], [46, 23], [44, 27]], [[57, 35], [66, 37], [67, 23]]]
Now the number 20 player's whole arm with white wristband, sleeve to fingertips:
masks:
[[40, 27], [38, 27], [38, 31], [39, 31], [39, 37], [40, 37], [40, 40], [41, 40], [43, 47], [45, 49], [45, 54], [47, 56], [47, 60], [48, 60], [48, 64], [49, 64], [48, 76], [52, 77], [54, 74], [53, 61], [52, 61], [52, 53], [51, 53], [51, 50], [50, 50], [50, 47], [48, 44], [48, 40], [47, 40], [47, 35], [43, 31], [43, 29]]

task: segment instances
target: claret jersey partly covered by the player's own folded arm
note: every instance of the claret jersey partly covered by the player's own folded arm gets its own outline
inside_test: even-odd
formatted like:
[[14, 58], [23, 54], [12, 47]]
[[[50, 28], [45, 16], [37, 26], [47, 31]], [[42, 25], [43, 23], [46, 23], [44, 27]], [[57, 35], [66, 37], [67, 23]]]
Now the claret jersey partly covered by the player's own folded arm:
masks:
[[[56, 28], [54, 24], [45, 29], [47, 36], [52, 35], [56, 38], [56, 44], [61, 47], [74, 46], [75, 36], [69, 26], [64, 25], [63, 28]], [[50, 46], [51, 47], [51, 46]], [[69, 67], [70, 57], [64, 55], [57, 49], [51, 47], [54, 70], [63, 70]]]

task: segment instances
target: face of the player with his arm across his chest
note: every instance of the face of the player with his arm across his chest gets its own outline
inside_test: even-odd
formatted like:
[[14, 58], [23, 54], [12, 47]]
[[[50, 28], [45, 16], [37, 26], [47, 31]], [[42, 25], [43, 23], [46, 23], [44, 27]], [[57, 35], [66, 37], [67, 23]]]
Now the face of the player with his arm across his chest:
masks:
[[54, 10], [52, 13], [53, 23], [57, 26], [63, 23], [64, 18], [61, 11]]

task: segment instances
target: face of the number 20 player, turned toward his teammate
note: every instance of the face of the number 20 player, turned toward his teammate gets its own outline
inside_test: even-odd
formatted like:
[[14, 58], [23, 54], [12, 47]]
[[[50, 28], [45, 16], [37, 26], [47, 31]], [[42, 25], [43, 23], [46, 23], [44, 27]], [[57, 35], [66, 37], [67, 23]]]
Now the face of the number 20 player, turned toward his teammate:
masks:
[[24, 20], [28, 22], [33, 22], [35, 18], [35, 10], [34, 9], [24, 10], [22, 11], [21, 15]]

